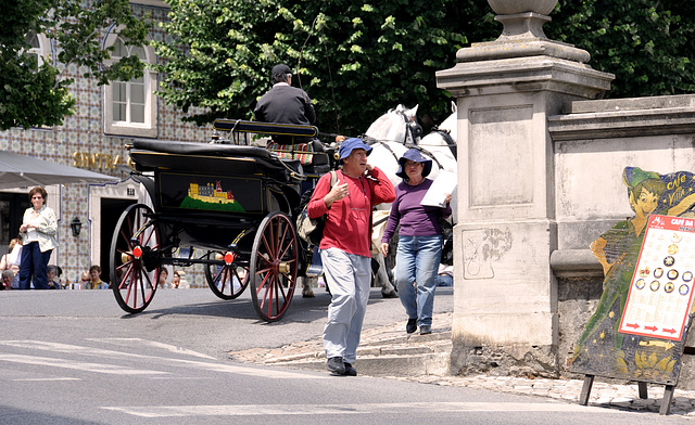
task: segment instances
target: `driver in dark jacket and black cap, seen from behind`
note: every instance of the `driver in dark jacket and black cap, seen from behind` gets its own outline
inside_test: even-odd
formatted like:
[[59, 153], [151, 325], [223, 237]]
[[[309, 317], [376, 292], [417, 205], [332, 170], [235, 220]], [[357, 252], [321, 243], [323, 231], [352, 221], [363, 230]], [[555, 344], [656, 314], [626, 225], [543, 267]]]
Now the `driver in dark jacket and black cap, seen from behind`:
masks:
[[[270, 73], [273, 88], [258, 99], [253, 110], [254, 119], [263, 123], [296, 124], [311, 126], [316, 120], [314, 105], [308, 94], [300, 88], [292, 87], [292, 69], [285, 64], [273, 67]], [[312, 138], [294, 138], [294, 143], [309, 142]], [[279, 144], [291, 144], [289, 136], [274, 136]]]

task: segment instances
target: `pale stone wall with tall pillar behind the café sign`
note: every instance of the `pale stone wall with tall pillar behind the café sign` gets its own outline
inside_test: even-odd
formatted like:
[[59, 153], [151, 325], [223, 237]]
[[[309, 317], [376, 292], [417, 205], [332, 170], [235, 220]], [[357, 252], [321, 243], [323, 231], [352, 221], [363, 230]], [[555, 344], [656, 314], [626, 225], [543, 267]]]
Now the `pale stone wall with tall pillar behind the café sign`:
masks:
[[543, 34], [554, 3], [490, 1], [500, 38], [437, 73], [458, 106], [453, 373], [567, 375], [603, 292], [589, 246], [633, 216], [623, 168], [695, 170], [695, 95], [604, 100], [614, 76]]

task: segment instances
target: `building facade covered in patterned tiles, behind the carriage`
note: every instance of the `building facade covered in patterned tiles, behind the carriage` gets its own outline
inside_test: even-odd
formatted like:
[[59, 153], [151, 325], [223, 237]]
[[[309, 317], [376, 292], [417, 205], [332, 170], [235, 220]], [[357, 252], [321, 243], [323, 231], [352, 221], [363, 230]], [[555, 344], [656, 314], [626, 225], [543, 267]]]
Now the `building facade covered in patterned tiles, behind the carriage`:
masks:
[[[150, 13], [155, 22], [167, 18], [168, 9], [160, 0], [135, 0], [131, 5], [136, 14]], [[166, 40], [167, 37], [156, 25], [150, 31], [150, 38], [154, 40]], [[33, 51], [40, 54], [43, 61], [55, 61], [55, 50], [60, 47], [51, 46], [41, 35], [36, 37], [36, 41], [38, 47], [35, 44]], [[118, 41], [117, 28], [104, 31], [103, 44]], [[156, 61], [153, 50], [149, 48], [126, 53], [139, 54], [150, 63]], [[139, 80], [98, 86], [94, 79], [83, 77], [84, 70], [75, 65], [64, 69], [66, 78], [75, 79], [71, 93], [77, 100], [77, 105], [75, 115], [66, 117], [62, 126], [0, 132], [0, 150], [122, 179], [119, 183], [46, 188], [49, 193], [48, 205], [55, 210], [59, 219], [60, 246], [53, 252], [50, 263], [62, 268], [64, 283], [78, 282], [81, 272], [91, 265], [101, 265], [104, 280], [111, 279], [108, 269], [113, 229], [127, 205], [142, 201], [144, 196], [140, 184], [129, 178], [126, 143], [142, 137], [203, 142], [208, 140], [212, 130], [212, 126], [197, 127], [182, 123], [182, 113], [154, 95], [157, 85], [154, 72], [146, 72], [146, 76]], [[22, 214], [29, 206], [26, 196], [29, 189], [0, 192], [0, 254], [8, 250], [9, 241], [17, 233]], [[74, 218], [83, 223], [77, 236], [72, 234], [70, 227]], [[195, 282], [195, 274], [200, 275], [188, 275], [189, 283], [202, 284]]]

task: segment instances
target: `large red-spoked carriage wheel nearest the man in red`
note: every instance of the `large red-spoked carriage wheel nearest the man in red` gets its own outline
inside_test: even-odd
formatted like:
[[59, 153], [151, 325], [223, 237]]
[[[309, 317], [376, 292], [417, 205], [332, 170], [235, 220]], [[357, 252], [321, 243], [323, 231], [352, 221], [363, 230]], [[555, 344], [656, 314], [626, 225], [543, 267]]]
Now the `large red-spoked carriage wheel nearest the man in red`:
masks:
[[299, 270], [299, 243], [291, 219], [283, 212], [266, 216], [251, 252], [251, 296], [261, 319], [275, 322], [287, 311]]

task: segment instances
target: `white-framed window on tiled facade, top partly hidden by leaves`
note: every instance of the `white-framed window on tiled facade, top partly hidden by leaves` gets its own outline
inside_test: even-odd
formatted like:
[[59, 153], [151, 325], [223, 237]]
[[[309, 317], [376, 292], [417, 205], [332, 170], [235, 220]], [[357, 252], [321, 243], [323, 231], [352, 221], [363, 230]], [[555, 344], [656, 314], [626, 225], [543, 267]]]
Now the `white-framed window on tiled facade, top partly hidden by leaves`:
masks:
[[[110, 63], [132, 55], [146, 63], [154, 61], [154, 52], [150, 48], [126, 46], [117, 31], [106, 37], [105, 44], [113, 46], [115, 49], [111, 54]], [[142, 77], [129, 81], [115, 80], [104, 87], [104, 132], [115, 136], [155, 138], [157, 112], [155, 88], [156, 73], [151, 69], [144, 69]]]

